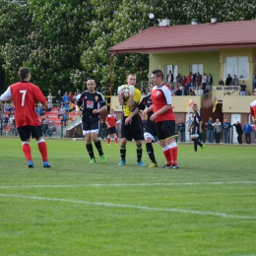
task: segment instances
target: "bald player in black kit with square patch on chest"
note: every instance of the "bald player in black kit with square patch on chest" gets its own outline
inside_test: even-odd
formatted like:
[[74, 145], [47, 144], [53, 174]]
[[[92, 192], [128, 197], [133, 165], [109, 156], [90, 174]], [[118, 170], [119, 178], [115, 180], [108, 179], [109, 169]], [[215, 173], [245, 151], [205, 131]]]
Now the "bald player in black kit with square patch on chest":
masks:
[[102, 152], [101, 143], [97, 138], [99, 128], [99, 113], [106, 111], [106, 103], [104, 96], [96, 91], [96, 82], [89, 80], [87, 82], [88, 90], [83, 92], [77, 101], [76, 111], [81, 115], [80, 106], [82, 109], [82, 128], [83, 135], [85, 135], [86, 147], [91, 158], [90, 163], [96, 162], [92, 141], [96, 145], [98, 155], [102, 162], [105, 158]]

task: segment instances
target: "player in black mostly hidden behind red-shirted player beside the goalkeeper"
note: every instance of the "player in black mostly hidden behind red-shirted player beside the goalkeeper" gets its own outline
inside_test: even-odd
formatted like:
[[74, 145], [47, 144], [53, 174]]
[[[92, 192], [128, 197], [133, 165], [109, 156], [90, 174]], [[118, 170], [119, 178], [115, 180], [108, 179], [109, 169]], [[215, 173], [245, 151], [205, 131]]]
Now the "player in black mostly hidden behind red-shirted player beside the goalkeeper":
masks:
[[[150, 91], [152, 91], [153, 85], [151, 85]], [[140, 110], [145, 110], [146, 108], [150, 107], [152, 105], [151, 100], [151, 93], [149, 93], [147, 96], [143, 97], [143, 99], [140, 101], [137, 108], [134, 110], [134, 112], [125, 120], [125, 123], [128, 124], [133, 116], [135, 116]], [[144, 140], [146, 142], [146, 150], [147, 153], [152, 160], [150, 168], [158, 167], [157, 160], [155, 158], [154, 154], [154, 148], [152, 146], [152, 143], [156, 141], [157, 136], [157, 128], [156, 128], [156, 122], [151, 121], [150, 117], [152, 116], [153, 111], [148, 113], [148, 116], [146, 117], [146, 123], [144, 124]]]

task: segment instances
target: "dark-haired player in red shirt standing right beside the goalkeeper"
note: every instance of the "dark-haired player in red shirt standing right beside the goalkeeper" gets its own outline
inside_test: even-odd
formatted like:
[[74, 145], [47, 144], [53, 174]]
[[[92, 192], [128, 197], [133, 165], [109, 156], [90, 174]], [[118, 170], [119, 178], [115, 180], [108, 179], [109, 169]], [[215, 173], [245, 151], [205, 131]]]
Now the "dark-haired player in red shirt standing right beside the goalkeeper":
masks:
[[152, 91], [152, 106], [144, 110], [144, 114], [154, 111], [150, 117], [156, 120], [157, 133], [160, 140], [160, 147], [166, 160], [165, 168], [178, 168], [177, 144], [175, 134], [175, 115], [171, 107], [171, 94], [167, 86], [163, 84], [163, 73], [160, 70], [152, 72], [152, 84], [155, 86]]

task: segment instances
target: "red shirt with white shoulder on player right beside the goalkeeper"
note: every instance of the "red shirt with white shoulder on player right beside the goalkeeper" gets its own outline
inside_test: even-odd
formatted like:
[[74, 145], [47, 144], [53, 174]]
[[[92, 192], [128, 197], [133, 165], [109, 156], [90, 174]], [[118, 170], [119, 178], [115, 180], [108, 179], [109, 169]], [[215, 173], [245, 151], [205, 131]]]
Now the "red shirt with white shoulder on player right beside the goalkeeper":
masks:
[[170, 108], [163, 114], [160, 114], [156, 118], [156, 122], [175, 120], [175, 115], [171, 107], [171, 93], [167, 86], [154, 87], [152, 91], [153, 111], [156, 113], [164, 105], [170, 105]]

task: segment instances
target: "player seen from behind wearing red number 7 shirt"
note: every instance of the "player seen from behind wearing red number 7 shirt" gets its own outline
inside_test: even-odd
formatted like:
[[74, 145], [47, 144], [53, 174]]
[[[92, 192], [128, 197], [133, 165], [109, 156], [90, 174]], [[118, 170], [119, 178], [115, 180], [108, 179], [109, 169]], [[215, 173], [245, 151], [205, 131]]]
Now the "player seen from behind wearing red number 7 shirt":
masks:
[[32, 149], [30, 145], [31, 136], [37, 141], [38, 150], [41, 154], [42, 166], [50, 167], [47, 159], [47, 147], [42, 138], [40, 119], [35, 113], [35, 101], [39, 101], [47, 109], [48, 103], [42, 95], [40, 89], [33, 85], [31, 80], [31, 70], [22, 67], [19, 70], [21, 82], [8, 87], [7, 91], [0, 96], [0, 100], [13, 99], [15, 105], [15, 121], [20, 138], [23, 142], [22, 150], [27, 160], [28, 166], [33, 167]]

